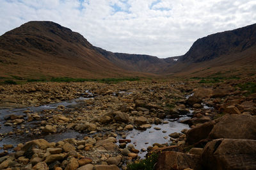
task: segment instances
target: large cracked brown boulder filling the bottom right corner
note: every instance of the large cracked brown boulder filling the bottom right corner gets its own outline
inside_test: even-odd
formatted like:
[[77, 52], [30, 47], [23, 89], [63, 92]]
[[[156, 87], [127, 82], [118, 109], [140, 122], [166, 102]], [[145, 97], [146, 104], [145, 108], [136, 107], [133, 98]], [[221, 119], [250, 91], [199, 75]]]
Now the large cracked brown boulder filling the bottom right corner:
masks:
[[256, 141], [213, 140], [204, 148], [202, 164], [205, 169], [256, 169]]

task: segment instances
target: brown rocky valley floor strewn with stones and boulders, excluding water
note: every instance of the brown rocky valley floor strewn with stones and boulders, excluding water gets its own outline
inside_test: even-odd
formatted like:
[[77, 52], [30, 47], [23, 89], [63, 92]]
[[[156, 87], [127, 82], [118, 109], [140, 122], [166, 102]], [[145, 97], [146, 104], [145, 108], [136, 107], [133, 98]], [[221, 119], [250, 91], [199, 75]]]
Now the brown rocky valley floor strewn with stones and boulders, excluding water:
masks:
[[[0, 107], [26, 108], [1, 117], [1, 128], [11, 129], [1, 138], [36, 138], [17, 146], [5, 143], [0, 169], [126, 169], [142, 151], [159, 153], [157, 169], [256, 169], [256, 94], [237, 86], [249, 81], [255, 77], [214, 84], [157, 80], [0, 86]], [[52, 109], [29, 107], [79, 97]], [[146, 130], [183, 115], [191, 116], [181, 120], [191, 129], [168, 134], [169, 143], [138, 150], [127, 139], [129, 130]], [[67, 130], [83, 136], [54, 143], [39, 139]]]

